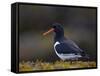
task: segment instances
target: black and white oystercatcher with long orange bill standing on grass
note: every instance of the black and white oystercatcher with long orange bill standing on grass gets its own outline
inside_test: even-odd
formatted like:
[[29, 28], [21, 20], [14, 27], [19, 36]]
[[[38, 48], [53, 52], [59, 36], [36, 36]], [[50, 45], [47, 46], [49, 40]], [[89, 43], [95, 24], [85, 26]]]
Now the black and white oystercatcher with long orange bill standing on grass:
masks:
[[51, 29], [44, 32], [46, 36], [50, 32], [54, 32], [54, 51], [56, 55], [63, 61], [78, 60], [80, 58], [88, 58], [88, 55], [83, 51], [74, 41], [64, 36], [64, 29], [62, 24], [53, 23]]

